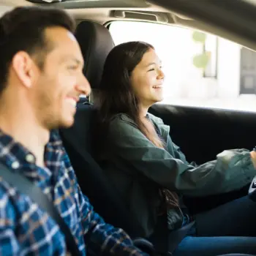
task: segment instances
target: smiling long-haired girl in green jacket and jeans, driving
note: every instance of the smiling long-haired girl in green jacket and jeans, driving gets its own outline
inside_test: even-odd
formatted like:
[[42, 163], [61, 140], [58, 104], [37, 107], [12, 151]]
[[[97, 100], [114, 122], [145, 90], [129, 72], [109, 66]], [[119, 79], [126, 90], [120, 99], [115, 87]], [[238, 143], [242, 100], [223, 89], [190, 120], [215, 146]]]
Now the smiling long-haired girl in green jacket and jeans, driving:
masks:
[[97, 148], [99, 162], [138, 220], [142, 236], [154, 233], [163, 216], [169, 230], [195, 219], [192, 236], [184, 238], [174, 255], [256, 252], [256, 238], [221, 237], [256, 236], [256, 206], [247, 197], [195, 217], [181, 202], [181, 195], [214, 195], [244, 187], [256, 175], [255, 152], [224, 151], [215, 161], [189, 164], [172, 142], [169, 127], [148, 113], [163, 99], [164, 78], [152, 45], [127, 42], [109, 53], [96, 101], [105, 138]]

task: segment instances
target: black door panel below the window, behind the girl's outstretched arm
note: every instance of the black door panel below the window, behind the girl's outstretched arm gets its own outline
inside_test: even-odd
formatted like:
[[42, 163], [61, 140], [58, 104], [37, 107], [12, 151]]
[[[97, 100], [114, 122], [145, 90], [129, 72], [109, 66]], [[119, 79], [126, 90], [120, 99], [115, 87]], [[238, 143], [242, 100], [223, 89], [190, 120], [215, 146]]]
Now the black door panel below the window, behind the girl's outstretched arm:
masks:
[[[150, 113], [170, 126], [173, 142], [181, 147], [189, 162], [197, 164], [216, 159], [225, 149], [248, 148], [256, 145], [256, 113], [233, 110], [202, 109], [171, 105], [154, 105]], [[248, 187], [227, 194], [187, 198], [193, 213], [246, 195]]]

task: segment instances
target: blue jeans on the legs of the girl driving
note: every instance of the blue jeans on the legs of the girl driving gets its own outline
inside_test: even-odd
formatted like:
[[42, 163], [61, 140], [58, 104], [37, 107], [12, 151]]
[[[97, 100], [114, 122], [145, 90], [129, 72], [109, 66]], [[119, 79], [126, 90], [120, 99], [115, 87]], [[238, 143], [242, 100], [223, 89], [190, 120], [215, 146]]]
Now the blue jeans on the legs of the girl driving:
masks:
[[178, 245], [173, 256], [256, 255], [256, 203], [241, 197], [195, 216], [195, 233]]

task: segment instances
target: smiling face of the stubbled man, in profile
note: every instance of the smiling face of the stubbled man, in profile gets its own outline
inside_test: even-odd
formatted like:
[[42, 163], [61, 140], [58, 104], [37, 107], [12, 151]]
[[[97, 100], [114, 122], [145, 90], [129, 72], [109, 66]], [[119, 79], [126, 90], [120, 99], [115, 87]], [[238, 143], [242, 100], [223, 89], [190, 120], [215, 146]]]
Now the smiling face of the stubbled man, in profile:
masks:
[[70, 127], [80, 94], [91, 91], [82, 71], [83, 56], [75, 37], [66, 29], [46, 29], [45, 38], [53, 49], [45, 57], [43, 69], [38, 69], [31, 101], [43, 127]]

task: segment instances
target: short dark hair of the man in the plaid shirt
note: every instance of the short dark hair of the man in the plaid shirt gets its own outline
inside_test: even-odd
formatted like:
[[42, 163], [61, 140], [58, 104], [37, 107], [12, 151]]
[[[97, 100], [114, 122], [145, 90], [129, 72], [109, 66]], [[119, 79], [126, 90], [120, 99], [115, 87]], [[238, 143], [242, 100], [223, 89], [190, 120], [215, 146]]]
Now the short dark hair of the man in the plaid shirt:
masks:
[[63, 10], [17, 7], [0, 18], [0, 94], [7, 85], [12, 58], [20, 50], [34, 55], [40, 69], [51, 45], [45, 29], [61, 26], [74, 33], [75, 21]]

